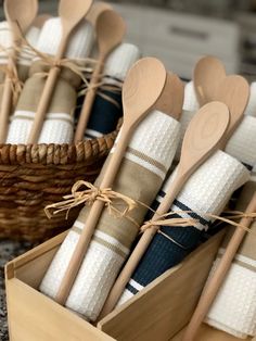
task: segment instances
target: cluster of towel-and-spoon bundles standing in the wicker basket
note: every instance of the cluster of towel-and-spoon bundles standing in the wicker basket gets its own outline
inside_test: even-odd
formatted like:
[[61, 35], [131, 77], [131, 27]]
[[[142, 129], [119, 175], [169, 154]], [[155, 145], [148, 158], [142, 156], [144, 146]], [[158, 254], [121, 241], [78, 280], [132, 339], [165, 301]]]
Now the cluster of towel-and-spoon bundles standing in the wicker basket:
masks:
[[139, 49], [123, 42], [124, 20], [102, 2], [7, 0], [0, 23], [0, 142], [71, 143], [115, 130], [121, 86]]

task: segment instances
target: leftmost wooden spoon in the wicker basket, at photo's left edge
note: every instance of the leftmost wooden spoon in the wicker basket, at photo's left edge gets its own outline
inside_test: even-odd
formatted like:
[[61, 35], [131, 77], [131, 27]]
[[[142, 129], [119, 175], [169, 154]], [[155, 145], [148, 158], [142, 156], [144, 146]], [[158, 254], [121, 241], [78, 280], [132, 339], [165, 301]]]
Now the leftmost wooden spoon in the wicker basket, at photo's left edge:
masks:
[[[4, 13], [8, 23], [12, 29], [13, 36], [13, 50], [9, 56], [8, 68], [12, 72], [13, 65], [16, 64], [17, 51], [22, 43], [22, 34], [25, 35], [33, 21], [35, 20], [38, 11], [37, 0], [5, 0]], [[9, 75], [5, 76], [1, 111], [0, 111], [0, 143], [4, 143], [8, 134], [9, 115], [12, 110], [12, 79]]]

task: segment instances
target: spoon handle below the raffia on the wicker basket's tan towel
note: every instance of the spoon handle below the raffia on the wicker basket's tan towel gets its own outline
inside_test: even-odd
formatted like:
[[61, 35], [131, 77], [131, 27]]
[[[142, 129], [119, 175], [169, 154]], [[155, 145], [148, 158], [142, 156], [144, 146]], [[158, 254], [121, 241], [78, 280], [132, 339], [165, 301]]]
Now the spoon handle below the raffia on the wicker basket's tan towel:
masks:
[[38, 142], [38, 139], [40, 137], [40, 132], [42, 129], [44, 116], [48, 111], [49, 103], [52, 98], [52, 93], [54, 92], [54, 87], [55, 87], [60, 72], [61, 72], [61, 67], [56, 67], [56, 66], [50, 70], [49, 76], [47, 78], [47, 81], [42, 91], [42, 96], [40, 98], [40, 101], [37, 108], [33, 127], [31, 127], [28, 140], [27, 140], [28, 144]]

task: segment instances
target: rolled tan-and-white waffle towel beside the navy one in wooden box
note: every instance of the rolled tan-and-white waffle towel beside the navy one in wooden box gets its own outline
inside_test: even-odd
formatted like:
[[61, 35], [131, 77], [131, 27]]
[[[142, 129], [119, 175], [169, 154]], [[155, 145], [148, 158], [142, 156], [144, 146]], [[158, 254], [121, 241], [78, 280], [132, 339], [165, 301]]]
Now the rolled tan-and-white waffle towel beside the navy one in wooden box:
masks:
[[[177, 121], [164, 113], [158, 111], [150, 113], [137, 127], [129, 142], [113, 190], [151, 205], [174, 159], [179, 126]], [[107, 163], [108, 159], [104, 167]], [[101, 182], [104, 167], [97, 184]], [[114, 205], [118, 210], [124, 209], [124, 204], [118, 200]], [[51, 298], [56, 295], [81, 229], [86, 228], [89, 210], [89, 207], [81, 210], [41, 282], [40, 290]], [[114, 217], [104, 209], [67, 299], [68, 308], [89, 320], [97, 319], [129, 254], [146, 211], [144, 206], [139, 205], [129, 213], [129, 219]]]

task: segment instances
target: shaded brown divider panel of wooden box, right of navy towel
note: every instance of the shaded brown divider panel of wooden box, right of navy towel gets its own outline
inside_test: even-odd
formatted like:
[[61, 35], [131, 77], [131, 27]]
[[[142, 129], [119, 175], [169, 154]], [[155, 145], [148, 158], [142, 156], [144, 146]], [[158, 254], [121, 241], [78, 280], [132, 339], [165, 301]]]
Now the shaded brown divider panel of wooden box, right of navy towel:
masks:
[[166, 341], [191, 318], [223, 232], [194, 251], [143, 291], [102, 319], [98, 327], [118, 341]]

